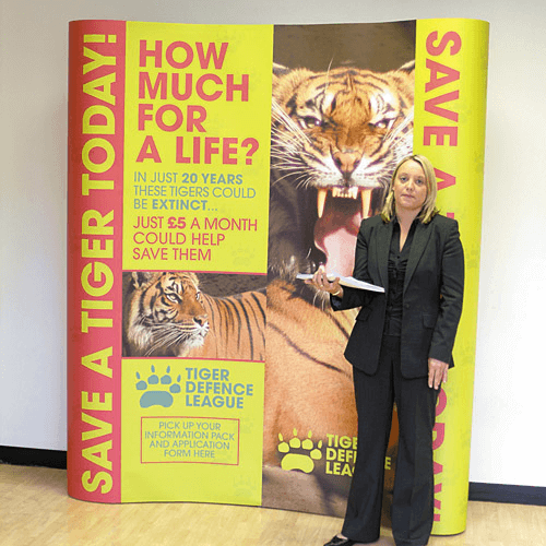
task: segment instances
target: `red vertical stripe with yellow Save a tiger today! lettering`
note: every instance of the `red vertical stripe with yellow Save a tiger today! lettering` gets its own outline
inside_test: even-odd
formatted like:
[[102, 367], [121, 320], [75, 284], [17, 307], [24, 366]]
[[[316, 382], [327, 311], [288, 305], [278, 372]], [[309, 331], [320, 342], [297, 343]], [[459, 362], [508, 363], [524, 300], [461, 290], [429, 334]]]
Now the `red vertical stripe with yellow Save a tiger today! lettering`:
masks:
[[[87, 48], [87, 52], [85, 52]], [[91, 57], [90, 57], [91, 54]], [[103, 62], [104, 58], [115, 62]], [[93, 64], [95, 58], [95, 64]], [[97, 61], [98, 59], [98, 61]], [[121, 388], [121, 228], [123, 187], [126, 23], [80, 21], [69, 33], [68, 154], [68, 484], [72, 497], [120, 502]], [[84, 73], [85, 72], [85, 73]], [[103, 80], [102, 80], [103, 79]], [[94, 84], [85, 92], [85, 85]], [[91, 92], [90, 92], [91, 90]], [[103, 95], [104, 93], [104, 95]], [[95, 95], [95, 96], [94, 96]], [[114, 96], [115, 104], [110, 97]], [[96, 106], [98, 114], [88, 119]], [[104, 112], [108, 110], [108, 116]], [[108, 120], [108, 121], [107, 121]], [[104, 128], [98, 126], [104, 124]], [[112, 127], [108, 130], [106, 126]], [[94, 129], [90, 130], [90, 126]], [[103, 130], [104, 129], [104, 130]], [[109, 159], [112, 159], [111, 165]], [[91, 167], [90, 167], [91, 165]], [[85, 194], [84, 177], [112, 181]], [[108, 218], [107, 234], [83, 234], [92, 215]], [[93, 221], [91, 222], [93, 224]], [[95, 256], [86, 256], [96, 245]], [[109, 252], [108, 246], [112, 245]], [[105, 250], [106, 249], [106, 250]], [[102, 256], [99, 256], [102, 253]], [[91, 276], [86, 271], [91, 271]], [[114, 278], [107, 293], [105, 280]], [[96, 275], [96, 276], [95, 276]], [[86, 285], [86, 286], [84, 286]], [[97, 292], [90, 294], [90, 288]], [[85, 304], [91, 301], [91, 304]], [[88, 309], [88, 307], [92, 307]], [[109, 307], [111, 306], [111, 309]], [[95, 308], [93, 308], [95, 307]], [[96, 308], [98, 307], [98, 308]], [[111, 327], [82, 330], [82, 311]], [[93, 324], [97, 324], [93, 322]], [[105, 324], [104, 322], [100, 324]], [[109, 352], [111, 378], [82, 365], [97, 352]], [[111, 407], [109, 400], [111, 396]], [[91, 402], [85, 402], [91, 401]], [[111, 431], [109, 430], [111, 427]], [[108, 449], [109, 448], [109, 449]]]

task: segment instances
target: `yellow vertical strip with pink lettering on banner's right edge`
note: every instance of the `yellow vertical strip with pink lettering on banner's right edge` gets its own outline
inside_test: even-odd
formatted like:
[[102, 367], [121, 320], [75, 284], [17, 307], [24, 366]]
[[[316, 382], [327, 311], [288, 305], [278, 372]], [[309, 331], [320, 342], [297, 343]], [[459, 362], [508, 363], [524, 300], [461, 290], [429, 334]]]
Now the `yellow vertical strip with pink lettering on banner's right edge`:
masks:
[[414, 152], [436, 168], [438, 205], [459, 222], [465, 296], [449, 382], [437, 408], [434, 534], [464, 531], [476, 348], [489, 24], [417, 21]]

